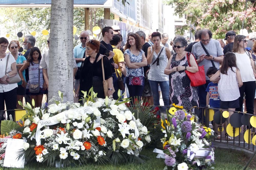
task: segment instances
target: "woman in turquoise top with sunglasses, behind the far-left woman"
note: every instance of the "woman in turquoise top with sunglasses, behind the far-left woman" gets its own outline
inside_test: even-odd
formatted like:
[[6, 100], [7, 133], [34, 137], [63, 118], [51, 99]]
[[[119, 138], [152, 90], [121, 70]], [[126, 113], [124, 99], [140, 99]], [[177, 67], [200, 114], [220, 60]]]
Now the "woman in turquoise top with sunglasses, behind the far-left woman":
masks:
[[[20, 68], [24, 65], [24, 63], [27, 61], [27, 59], [18, 54], [18, 50], [20, 48], [19, 42], [16, 40], [13, 40], [10, 42], [8, 49], [10, 53], [13, 55], [14, 59], [16, 60], [16, 67], [17, 71], [19, 71]], [[22, 72], [23, 77], [25, 77], [25, 70]], [[23, 96], [26, 93], [26, 89], [22, 87], [22, 81], [20, 81], [17, 88], [17, 109], [23, 109], [22, 106], [19, 105], [18, 101], [23, 102]]]

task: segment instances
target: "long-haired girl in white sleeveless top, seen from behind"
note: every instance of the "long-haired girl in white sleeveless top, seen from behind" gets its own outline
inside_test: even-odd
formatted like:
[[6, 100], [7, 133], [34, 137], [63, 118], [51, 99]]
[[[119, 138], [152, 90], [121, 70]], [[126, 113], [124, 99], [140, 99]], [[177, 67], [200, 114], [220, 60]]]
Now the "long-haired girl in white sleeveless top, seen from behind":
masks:
[[[225, 54], [220, 70], [218, 70], [210, 81], [218, 80], [218, 93], [220, 96], [220, 108], [235, 111], [239, 108], [239, 87], [243, 85], [241, 74], [236, 64], [236, 56], [234, 53]], [[230, 112], [230, 116], [233, 112]], [[229, 117], [230, 117], [229, 116]]]

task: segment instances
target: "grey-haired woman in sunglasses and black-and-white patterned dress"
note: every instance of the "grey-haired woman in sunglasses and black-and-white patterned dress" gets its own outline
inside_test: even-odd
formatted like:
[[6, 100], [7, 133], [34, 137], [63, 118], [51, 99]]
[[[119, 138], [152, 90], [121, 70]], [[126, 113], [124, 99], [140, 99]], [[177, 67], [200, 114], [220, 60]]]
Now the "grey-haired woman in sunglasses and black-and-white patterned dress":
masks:
[[[187, 40], [183, 36], [178, 36], [173, 41], [173, 47], [176, 50], [168, 61], [164, 73], [171, 75], [170, 77], [170, 101], [179, 106], [198, 106], [198, 95], [196, 87], [190, 85], [190, 79], [185, 70], [195, 73], [198, 66], [193, 54], [185, 51], [188, 45]], [[189, 63], [188, 58], [189, 55]]]

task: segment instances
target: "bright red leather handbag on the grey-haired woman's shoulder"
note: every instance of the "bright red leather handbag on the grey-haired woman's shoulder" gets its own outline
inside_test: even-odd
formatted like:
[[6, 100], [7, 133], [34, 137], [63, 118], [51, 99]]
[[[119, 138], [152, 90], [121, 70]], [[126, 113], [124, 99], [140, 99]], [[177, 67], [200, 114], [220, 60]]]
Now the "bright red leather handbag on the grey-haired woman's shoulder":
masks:
[[[190, 54], [192, 54], [192, 53], [187, 53], [187, 60], [188, 60], [189, 67], [191, 67], [191, 65], [189, 63]], [[194, 55], [193, 55], [193, 57], [195, 58]], [[197, 62], [196, 62], [196, 64], [197, 64]], [[197, 66], [198, 66], [198, 64], [197, 64]], [[206, 83], [204, 66], [198, 66], [198, 72], [195, 72], [195, 73], [191, 73], [187, 70], [185, 70], [185, 72], [186, 72], [188, 78], [190, 79], [190, 85], [192, 87], [201, 86]]]

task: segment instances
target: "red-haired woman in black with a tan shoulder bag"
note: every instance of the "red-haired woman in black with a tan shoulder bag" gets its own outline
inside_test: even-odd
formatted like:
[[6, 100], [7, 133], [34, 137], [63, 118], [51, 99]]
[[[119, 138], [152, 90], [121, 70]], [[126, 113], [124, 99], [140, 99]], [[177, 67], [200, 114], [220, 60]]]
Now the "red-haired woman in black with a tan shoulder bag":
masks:
[[76, 91], [76, 96], [83, 97], [81, 90], [89, 91], [93, 87], [93, 91], [97, 94], [98, 98], [105, 98], [103, 89], [103, 74], [102, 64], [105, 73], [105, 79], [108, 81], [108, 96], [113, 95], [113, 77], [111, 72], [110, 62], [108, 57], [99, 53], [100, 42], [97, 40], [90, 40], [86, 43], [86, 59], [84, 60], [83, 67], [80, 75], [80, 88]]

